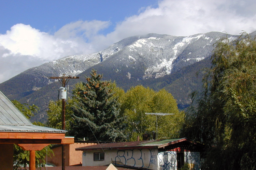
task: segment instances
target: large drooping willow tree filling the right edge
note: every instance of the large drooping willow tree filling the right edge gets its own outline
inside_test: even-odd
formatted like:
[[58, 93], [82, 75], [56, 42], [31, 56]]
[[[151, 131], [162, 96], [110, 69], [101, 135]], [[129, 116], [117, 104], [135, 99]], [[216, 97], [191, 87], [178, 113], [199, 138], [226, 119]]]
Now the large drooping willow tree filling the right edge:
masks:
[[255, 169], [255, 37], [221, 38], [213, 52], [204, 94], [187, 113], [185, 133], [209, 147], [210, 169]]

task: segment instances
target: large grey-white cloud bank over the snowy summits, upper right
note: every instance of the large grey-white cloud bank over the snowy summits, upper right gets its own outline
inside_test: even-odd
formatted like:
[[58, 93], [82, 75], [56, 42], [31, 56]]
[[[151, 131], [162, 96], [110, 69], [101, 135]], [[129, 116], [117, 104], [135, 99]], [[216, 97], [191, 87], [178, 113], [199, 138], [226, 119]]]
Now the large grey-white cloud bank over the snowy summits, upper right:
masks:
[[[247, 4], [250, 2], [252, 4]], [[246, 4], [246, 5], [245, 5]], [[157, 8], [148, 7], [139, 15], [117, 24], [108, 36], [128, 37], [138, 34], [159, 33], [188, 36], [210, 31], [239, 34], [242, 30], [256, 30], [256, 12], [244, 15], [248, 6], [256, 2], [241, 0], [164, 0]]]

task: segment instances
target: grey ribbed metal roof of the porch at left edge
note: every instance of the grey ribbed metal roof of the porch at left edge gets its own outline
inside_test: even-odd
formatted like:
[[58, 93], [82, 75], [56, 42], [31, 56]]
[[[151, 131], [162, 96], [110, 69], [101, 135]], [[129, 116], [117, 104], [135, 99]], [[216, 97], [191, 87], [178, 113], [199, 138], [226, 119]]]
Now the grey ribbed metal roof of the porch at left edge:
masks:
[[66, 130], [33, 125], [0, 91], [0, 132], [66, 133]]

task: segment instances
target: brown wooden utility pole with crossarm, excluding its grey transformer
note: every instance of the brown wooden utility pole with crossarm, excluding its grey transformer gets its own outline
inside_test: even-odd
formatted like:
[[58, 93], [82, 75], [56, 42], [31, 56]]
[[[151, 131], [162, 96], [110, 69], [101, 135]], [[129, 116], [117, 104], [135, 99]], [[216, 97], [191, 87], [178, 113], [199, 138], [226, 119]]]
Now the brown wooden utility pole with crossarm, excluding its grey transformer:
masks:
[[[66, 74], [63, 74], [62, 77], [48, 77], [51, 79], [58, 79], [59, 82], [62, 84], [63, 88], [66, 88], [66, 84], [69, 82], [70, 79], [77, 79], [79, 77], [75, 77], [75, 76], [67, 76], [65, 77]], [[66, 102], [65, 102], [65, 98], [62, 98], [62, 130], [66, 130], [66, 117], [65, 117], [65, 113], [66, 113]], [[62, 170], [65, 170], [65, 144], [62, 144]]]

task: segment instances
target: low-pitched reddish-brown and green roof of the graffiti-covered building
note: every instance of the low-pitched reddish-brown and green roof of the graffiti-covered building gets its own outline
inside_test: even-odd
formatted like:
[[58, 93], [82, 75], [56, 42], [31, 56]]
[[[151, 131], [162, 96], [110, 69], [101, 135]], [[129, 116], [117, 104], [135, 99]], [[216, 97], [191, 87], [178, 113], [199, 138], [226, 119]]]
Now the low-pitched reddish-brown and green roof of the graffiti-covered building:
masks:
[[[77, 151], [83, 150], [98, 150], [98, 149], [131, 149], [131, 148], [163, 148], [168, 145], [179, 142], [186, 142], [189, 144], [199, 144], [187, 138], [180, 139], [165, 139], [165, 140], [147, 140], [147, 141], [133, 141], [133, 142], [117, 142], [117, 143], [101, 143], [97, 145], [84, 146], [76, 148]], [[199, 144], [201, 145], [201, 144]]]

